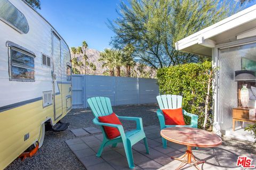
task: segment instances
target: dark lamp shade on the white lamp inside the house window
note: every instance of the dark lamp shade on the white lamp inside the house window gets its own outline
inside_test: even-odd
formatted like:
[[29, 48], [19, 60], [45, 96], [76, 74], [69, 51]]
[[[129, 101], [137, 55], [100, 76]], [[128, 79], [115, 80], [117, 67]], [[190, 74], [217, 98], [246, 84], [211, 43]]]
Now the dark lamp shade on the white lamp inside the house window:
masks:
[[235, 81], [256, 81], [256, 71], [239, 70], [235, 71]]

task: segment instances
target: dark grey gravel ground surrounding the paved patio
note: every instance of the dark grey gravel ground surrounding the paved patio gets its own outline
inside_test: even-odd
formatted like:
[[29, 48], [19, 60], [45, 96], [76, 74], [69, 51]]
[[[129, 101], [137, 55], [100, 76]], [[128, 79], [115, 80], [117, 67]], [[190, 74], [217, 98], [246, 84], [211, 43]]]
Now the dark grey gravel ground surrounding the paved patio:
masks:
[[[142, 117], [143, 126], [159, 125], [156, 116], [157, 104], [148, 105], [125, 105], [114, 106], [113, 111], [119, 116], [135, 116]], [[90, 109], [73, 109], [67, 116], [62, 118], [62, 122], [69, 122], [69, 129], [78, 129], [86, 127], [96, 127], [92, 123], [94, 116]], [[132, 129], [135, 123], [132, 121], [122, 121], [124, 129]], [[32, 158], [27, 158], [24, 162], [14, 160], [6, 170], [11, 169], [85, 169], [85, 167], [77, 160], [73, 152], [65, 143], [67, 139], [76, 138], [69, 131], [63, 132], [45, 132], [44, 145], [38, 150], [37, 154]], [[246, 152], [256, 154], [256, 145], [251, 142], [239, 141], [227, 137], [222, 138], [222, 145], [233, 146]]]

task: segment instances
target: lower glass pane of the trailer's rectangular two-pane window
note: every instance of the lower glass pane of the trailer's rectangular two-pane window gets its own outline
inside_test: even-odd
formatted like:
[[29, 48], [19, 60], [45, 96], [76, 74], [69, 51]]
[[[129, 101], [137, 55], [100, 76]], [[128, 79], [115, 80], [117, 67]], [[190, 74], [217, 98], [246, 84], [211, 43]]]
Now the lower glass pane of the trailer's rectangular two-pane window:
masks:
[[34, 70], [12, 65], [12, 79], [34, 80]]

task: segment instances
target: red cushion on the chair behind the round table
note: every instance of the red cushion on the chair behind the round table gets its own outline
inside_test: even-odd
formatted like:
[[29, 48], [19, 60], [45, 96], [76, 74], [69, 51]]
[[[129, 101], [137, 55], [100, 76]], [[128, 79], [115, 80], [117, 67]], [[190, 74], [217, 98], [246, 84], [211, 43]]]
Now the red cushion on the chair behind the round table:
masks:
[[166, 125], [185, 125], [182, 108], [163, 109]]

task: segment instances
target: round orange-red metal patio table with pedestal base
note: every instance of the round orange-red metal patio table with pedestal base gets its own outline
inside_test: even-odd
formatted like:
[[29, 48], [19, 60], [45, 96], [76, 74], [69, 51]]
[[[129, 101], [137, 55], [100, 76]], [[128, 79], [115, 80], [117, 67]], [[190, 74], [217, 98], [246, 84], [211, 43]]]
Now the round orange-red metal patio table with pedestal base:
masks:
[[221, 145], [222, 142], [217, 134], [202, 129], [183, 126], [165, 128], [161, 130], [161, 136], [171, 142], [187, 146], [186, 153], [183, 156], [179, 158], [171, 157], [181, 162], [180, 166], [176, 169], [180, 169], [187, 164], [194, 166], [196, 169], [200, 169], [198, 164], [202, 164], [204, 161], [197, 160], [194, 157], [191, 147], [210, 148]]

